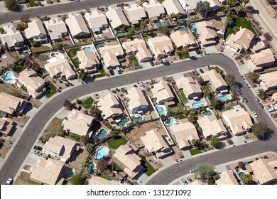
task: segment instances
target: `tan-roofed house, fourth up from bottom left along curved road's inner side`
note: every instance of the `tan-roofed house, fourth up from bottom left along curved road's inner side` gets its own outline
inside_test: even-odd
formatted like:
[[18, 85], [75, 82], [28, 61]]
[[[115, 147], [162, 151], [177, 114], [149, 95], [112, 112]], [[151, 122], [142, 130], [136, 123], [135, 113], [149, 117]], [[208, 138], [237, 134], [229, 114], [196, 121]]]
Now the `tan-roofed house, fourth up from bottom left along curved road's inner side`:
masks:
[[119, 98], [112, 93], [101, 97], [97, 102], [97, 107], [102, 111], [103, 119], [108, 119], [108, 121], [112, 121], [123, 113]]

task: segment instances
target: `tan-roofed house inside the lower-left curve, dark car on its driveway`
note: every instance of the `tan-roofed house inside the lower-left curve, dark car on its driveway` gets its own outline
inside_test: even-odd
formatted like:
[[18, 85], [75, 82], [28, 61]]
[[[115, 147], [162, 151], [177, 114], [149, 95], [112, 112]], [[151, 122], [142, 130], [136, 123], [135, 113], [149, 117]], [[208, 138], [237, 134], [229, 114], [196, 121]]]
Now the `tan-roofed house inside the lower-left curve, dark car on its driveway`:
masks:
[[74, 151], [77, 150], [77, 142], [61, 136], [50, 137], [43, 146], [43, 153], [52, 157], [60, 158], [60, 161], [70, 160]]

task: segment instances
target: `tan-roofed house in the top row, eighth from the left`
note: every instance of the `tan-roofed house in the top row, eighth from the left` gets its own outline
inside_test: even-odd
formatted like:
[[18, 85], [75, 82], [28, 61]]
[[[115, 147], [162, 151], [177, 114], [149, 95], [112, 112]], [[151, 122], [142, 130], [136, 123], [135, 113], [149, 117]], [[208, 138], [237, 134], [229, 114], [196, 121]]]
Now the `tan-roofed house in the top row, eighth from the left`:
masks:
[[165, 14], [165, 8], [157, 0], [146, 1], [142, 6], [151, 21], [157, 21], [162, 14]]

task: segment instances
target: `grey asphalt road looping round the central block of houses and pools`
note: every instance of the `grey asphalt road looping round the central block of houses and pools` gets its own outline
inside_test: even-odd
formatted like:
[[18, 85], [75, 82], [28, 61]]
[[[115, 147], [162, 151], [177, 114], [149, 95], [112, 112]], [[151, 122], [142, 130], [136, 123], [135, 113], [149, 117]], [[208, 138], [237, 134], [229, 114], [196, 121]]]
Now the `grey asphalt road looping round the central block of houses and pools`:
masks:
[[[70, 90], [61, 92], [59, 95], [50, 99], [46, 104], [36, 112], [31, 119], [29, 119], [26, 124], [26, 128], [22, 132], [21, 138], [15, 147], [12, 148], [9, 158], [6, 159], [4, 166], [2, 166], [0, 171], [0, 184], [4, 184], [6, 179], [15, 176], [18, 169], [21, 167], [24, 159], [31, 150], [31, 147], [35, 143], [40, 131], [43, 129], [48, 120], [58, 112], [59, 109], [63, 107], [63, 102], [65, 99], [70, 101], [88, 95], [92, 92], [98, 92], [100, 90], [107, 90], [113, 87], [121, 87], [131, 83], [151, 80], [156, 77], [163, 77], [167, 75], [172, 75], [174, 73], [183, 72], [186, 70], [192, 70], [193, 68], [200, 68], [207, 65], [220, 65], [228, 74], [234, 75], [237, 82], [241, 82], [241, 85], [245, 85], [244, 80], [242, 80], [237, 66], [231, 58], [224, 55], [211, 54], [206, 55], [197, 60], [187, 60], [180, 63], [174, 63], [169, 66], [161, 66], [156, 68], [151, 68], [149, 70], [138, 70], [136, 72], [126, 73], [124, 75], [105, 78], [103, 80], [97, 80], [95, 82], [89, 83], [87, 85], [78, 85], [72, 87]], [[249, 99], [248, 106], [251, 110], [256, 110], [259, 115], [259, 120], [264, 121], [268, 124], [270, 129], [276, 131], [276, 127], [271, 122], [266, 112], [259, 107], [259, 104], [254, 101], [254, 95], [248, 87], [241, 88], [244, 97]], [[277, 138], [273, 134], [268, 141], [255, 141], [251, 144], [245, 144], [242, 146], [237, 146], [232, 149], [226, 149], [222, 151], [217, 151], [212, 154], [203, 155], [197, 158], [192, 158], [188, 161], [183, 161], [182, 163], [176, 163], [170, 168], [166, 168], [165, 171], [156, 172], [148, 184], [168, 184], [175, 178], [183, 176], [188, 173], [188, 169], [195, 166], [198, 162], [209, 162], [213, 164], [224, 163], [227, 161], [234, 161], [237, 158], [243, 158], [246, 156], [251, 156], [254, 154], [260, 154], [265, 151], [276, 151], [277, 152]]]

